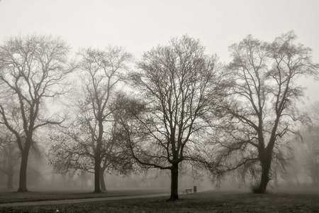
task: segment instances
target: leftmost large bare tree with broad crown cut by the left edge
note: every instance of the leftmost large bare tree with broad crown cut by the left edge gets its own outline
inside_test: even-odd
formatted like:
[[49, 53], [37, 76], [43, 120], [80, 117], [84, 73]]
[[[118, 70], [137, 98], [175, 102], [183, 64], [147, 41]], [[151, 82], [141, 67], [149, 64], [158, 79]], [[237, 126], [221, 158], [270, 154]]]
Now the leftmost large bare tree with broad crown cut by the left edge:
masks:
[[[47, 117], [45, 101], [65, 94], [65, 77], [74, 67], [67, 63], [69, 47], [47, 35], [16, 36], [0, 46], [0, 124], [16, 137], [21, 151], [19, 192], [26, 192], [28, 155], [37, 129], [61, 124], [62, 118]], [[18, 114], [22, 132], [15, 129], [11, 114]]]

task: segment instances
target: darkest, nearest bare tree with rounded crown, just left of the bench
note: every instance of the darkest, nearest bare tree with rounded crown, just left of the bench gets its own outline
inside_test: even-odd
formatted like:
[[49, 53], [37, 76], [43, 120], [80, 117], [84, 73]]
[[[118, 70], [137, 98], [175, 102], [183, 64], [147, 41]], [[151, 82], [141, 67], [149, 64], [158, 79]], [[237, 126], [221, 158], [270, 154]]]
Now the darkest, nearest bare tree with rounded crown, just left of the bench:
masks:
[[208, 137], [208, 112], [219, 101], [221, 65], [204, 51], [184, 35], [144, 53], [130, 75], [138, 99], [123, 97], [118, 107], [135, 160], [144, 168], [170, 170], [171, 200], [179, 198], [180, 163], [201, 160], [196, 148]]

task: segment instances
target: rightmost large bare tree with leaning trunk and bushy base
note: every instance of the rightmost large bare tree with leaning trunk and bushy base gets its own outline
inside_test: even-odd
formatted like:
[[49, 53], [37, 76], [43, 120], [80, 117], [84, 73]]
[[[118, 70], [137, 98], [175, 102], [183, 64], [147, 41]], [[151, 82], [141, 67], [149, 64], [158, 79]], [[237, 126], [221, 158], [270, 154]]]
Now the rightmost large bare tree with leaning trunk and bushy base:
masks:
[[298, 110], [304, 88], [297, 82], [316, 77], [319, 65], [312, 62], [310, 48], [294, 40], [292, 31], [272, 43], [248, 35], [230, 46], [228, 98], [220, 104], [220, 162], [223, 170], [259, 168], [255, 192], [266, 191], [272, 163], [286, 162], [286, 136], [298, 132], [298, 121], [308, 121]]

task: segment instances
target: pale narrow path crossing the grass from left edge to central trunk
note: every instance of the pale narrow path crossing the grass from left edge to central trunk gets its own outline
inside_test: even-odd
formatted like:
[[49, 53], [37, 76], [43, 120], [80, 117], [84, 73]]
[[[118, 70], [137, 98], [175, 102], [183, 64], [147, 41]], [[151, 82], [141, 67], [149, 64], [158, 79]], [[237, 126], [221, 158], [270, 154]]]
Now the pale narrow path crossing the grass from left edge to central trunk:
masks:
[[118, 197], [94, 197], [94, 198], [82, 198], [72, 200], [45, 200], [45, 201], [31, 201], [31, 202], [11, 202], [0, 204], [0, 207], [21, 207], [21, 206], [43, 206], [43, 205], [54, 205], [54, 204], [74, 204], [80, 202], [94, 202], [103, 200], [126, 200], [136, 199], [145, 197], [166, 197], [169, 193], [154, 194], [154, 195], [130, 195], [130, 196], [118, 196]]

